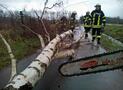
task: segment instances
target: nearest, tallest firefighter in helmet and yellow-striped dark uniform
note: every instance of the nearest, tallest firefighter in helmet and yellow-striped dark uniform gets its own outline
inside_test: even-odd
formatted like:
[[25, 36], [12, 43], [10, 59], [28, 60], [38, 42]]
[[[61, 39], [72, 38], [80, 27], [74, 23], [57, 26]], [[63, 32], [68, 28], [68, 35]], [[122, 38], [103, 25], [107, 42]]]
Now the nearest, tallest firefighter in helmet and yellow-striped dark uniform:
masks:
[[101, 5], [97, 4], [95, 10], [91, 12], [92, 16], [92, 42], [97, 38], [97, 44], [100, 45], [101, 32], [104, 30], [106, 17], [101, 10]]

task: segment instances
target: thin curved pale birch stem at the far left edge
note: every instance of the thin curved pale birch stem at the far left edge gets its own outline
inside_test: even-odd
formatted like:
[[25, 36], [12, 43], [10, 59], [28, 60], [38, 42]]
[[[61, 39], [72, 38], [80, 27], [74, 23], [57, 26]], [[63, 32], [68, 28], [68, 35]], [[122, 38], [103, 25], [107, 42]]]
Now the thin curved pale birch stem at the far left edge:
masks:
[[17, 71], [16, 71], [16, 59], [15, 59], [14, 54], [12, 53], [10, 45], [8, 44], [8, 42], [6, 41], [6, 39], [3, 37], [3, 35], [1, 33], [0, 33], [0, 37], [3, 40], [4, 44], [6, 45], [8, 53], [9, 53], [9, 56], [11, 58], [11, 65], [12, 65], [12, 68], [11, 68], [11, 78], [10, 78], [10, 80], [11, 80], [12, 77], [14, 75], [16, 75], [16, 73], [17, 73]]

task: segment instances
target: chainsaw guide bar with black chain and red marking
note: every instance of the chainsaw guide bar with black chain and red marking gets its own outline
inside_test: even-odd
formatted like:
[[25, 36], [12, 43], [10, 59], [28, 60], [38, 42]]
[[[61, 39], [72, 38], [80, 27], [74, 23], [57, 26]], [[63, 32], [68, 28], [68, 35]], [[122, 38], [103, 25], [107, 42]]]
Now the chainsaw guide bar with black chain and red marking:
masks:
[[116, 69], [123, 69], [123, 50], [68, 61], [58, 71], [62, 76], [71, 77]]

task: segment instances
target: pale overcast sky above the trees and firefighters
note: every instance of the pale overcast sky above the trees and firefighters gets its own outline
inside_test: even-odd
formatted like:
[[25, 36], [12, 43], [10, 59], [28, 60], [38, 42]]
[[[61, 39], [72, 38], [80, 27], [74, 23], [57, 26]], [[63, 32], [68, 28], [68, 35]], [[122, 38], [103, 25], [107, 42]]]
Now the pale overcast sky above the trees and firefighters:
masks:
[[[0, 0], [0, 4], [5, 5], [11, 10], [41, 10], [45, 0]], [[60, 0], [49, 0], [48, 6]], [[85, 15], [86, 11], [94, 10], [94, 5], [99, 3], [106, 16], [123, 18], [123, 0], [63, 0], [64, 9], [68, 11], [77, 11], [78, 16]], [[62, 8], [63, 9], [63, 8]], [[54, 8], [53, 10], [61, 10]]]

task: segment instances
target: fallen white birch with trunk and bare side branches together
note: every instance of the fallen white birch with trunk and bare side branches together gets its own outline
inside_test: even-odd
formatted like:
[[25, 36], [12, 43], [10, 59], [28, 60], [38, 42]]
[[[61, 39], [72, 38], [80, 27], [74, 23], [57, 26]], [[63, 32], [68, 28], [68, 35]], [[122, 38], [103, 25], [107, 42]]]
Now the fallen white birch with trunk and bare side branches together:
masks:
[[[58, 3], [56, 3], [56, 4], [53, 4], [53, 6], [48, 8], [48, 7], [46, 7], [47, 3], [48, 3], [48, 0], [46, 0], [46, 2], [45, 2], [45, 9], [52, 9], [56, 5], [59, 5]], [[7, 9], [7, 8], [5, 8], [5, 9]], [[45, 9], [44, 9], [44, 12], [45, 12]], [[10, 10], [8, 10], [8, 11], [11, 12]], [[36, 16], [38, 17], [38, 20], [40, 21], [40, 23], [43, 25], [44, 31], [45, 31], [45, 33], [47, 34], [47, 37], [48, 37], [48, 41], [50, 42], [50, 35], [49, 35], [49, 33], [46, 29], [45, 24], [43, 23], [42, 18], [39, 17], [39, 15], [37, 14], [36, 11], [34, 11], [34, 12], [35, 12]], [[13, 14], [13, 12], [11, 12], [10, 14]], [[43, 15], [42, 15], [42, 17], [43, 17]], [[44, 40], [43, 40], [43, 38], [40, 34], [34, 32], [31, 28], [26, 26], [24, 23], [21, 23], [21, 26], [26, 28], [25, 30], [31, 31], [33, 34], [38, 36], [38, 38], [40, 39], [42, 48], [45, 47]], [[43, 76], [46, 68], [49, 66], [49, 64], [53, 60], [53, 58], [61, 58], [61, 57], [66, 57], [66, 56], [73, 55], [74, 54], [74, 49], [63, 51], [63, 52], [60, 52], [60, 53], [55, 52], [56, 49], [58, 48], [57, 45], [66, 36], [71, 35], [71, 34], [72, 34], [72, 31], [70, 30], [70, 31], [64, 32], [61, 35], [57, 35], [56, 38], [54, 38], [43, 49], [41, 54], [39, 54], [39, 56], [23, 72], [21, 72], [19, 75], [15, 76], [15, 77], [13, 77], [13, 79], [7, 85], [7, 88], [9, 88], [9, 90], [11, 90], [10, 88], [19, 89], [19, 88], [21, 88], [25, 85], [27, 85], [27, 86], [31, 85], [33, 87], [35, 85], [35, 83]], [[16, 62], [12, 61], [12, 65], [16, 66]], [[33, 80], [32, 80], [32, 78], [33, 78]], [[11, 83], [11, 82], [15, 82], [15, 84], [13, 85], [13, 83]]]

